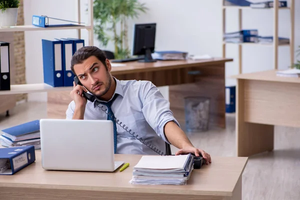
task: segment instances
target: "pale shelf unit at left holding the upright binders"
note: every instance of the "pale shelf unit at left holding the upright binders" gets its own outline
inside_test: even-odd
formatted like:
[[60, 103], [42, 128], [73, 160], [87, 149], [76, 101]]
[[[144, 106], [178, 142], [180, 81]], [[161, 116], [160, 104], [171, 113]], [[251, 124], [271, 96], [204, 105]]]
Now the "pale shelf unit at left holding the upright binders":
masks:
[[[77, 0], [78, 21], [80, 20], [80, 0]], [[64, 27], [37, 27], [33, 25], [17, 25], [11, 27], [2, 27], [0, 32], [14, 32], [14, 31], [38, 31], [38, 30], [62, 30], [62, 29], [77, 29], [78, 38], [81, 38], [80, 29], [88, 31], [88, 45], [93, 45], [93, 0], [88, 0], [88, 25], [85, 26], [64, 26]], [[42, 67], [42, 66], [40, 66]], [[71, 90], [72, 87], [52, 87], [46, 83], [34, 84], [11, 84], [10, 90], [0, 90], [0, 95], [4, 94], [18, 94], [18, 93], [32, 93], [32, 92], [46, 92], [46, 91], [64, 91]]]

